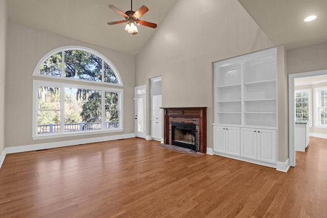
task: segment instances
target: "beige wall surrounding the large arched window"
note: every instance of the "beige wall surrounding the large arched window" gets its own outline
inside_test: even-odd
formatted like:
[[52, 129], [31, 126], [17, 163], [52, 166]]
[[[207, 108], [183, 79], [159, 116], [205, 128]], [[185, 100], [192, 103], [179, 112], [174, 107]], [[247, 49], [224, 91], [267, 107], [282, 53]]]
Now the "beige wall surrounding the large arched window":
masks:
[[[8, 23], [7, 41], [6, 147], [134, 133], [133, 56], [16, 25], [12, 22]], [[32, 81], [40, 79], [32, 76], [33, 70], [46, 53], [67, 45], [85, 46], [96, 50], [107, 57], [119, 70], [124, 83], [123, 132], [55, 139], [32, 139]]]

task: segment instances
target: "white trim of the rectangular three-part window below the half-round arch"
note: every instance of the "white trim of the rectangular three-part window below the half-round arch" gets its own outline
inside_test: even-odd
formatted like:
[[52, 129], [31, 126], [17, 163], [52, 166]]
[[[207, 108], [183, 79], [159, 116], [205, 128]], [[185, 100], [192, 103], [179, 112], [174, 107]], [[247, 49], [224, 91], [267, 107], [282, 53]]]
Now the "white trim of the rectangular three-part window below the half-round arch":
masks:
[[[117, 129], [106, 129], [106, 130], [91, 130], [91, 131], [81, 131], [81, 132], [64, 132], [63, 128], [59, 133], [50, 133], [50, 134], [37, 134], [37, 111], [38, 111], [38, 87], [39, 86], [55, 86], [60, 88], [60, 92], [64, 93], [64, 88], [83, 88], [83, 89], [91, 89], [91, 90], [101, 90], [107, 92], [118, 92], [118, 107], [119, 107], [119, 128]], [[101, 134], [108, 132], [122, 132], [124, 130], [123, 124], [123, 99], [124, 99], [124, 90], [120, 88], [109, 88], [102, 86], [89, 86], [84, 84], [73, 84], [73, 83], [60, 83], [60, 82], [51, 82], [51, 81], [43, 81], [43, 80], [33, 80], [33, 130], [32, 130], [32, 138], [33, 139], [46, 139], [46, 138], [58, 138], [58, 137], [66, 137], [66, 136], [77, 136], [77, 135], [88, 135], [88, 134]], [[62, 99], [64, 96], [60, 95], [60, 102], [64, 102]], [[104, 95], [102, 94], [102, 98]], [[60, 109], [64, 113], [63, 104], [60, 104]], [[104, 101], [102, 101], [102, 111], [104, 111]], [[104, 114], [102, 113], [102, 117]], [[104, 126], [104, 118], [102, 118], [102, 127]]]

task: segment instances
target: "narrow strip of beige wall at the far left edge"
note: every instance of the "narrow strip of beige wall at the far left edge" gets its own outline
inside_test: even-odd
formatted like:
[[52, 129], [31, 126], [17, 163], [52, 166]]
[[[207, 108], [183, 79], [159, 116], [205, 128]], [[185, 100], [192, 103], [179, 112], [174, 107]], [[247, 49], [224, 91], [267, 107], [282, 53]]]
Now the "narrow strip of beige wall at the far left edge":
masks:
[[5, 75], [6, 75], [6, 35], [7, 4], [0, 0], [0, 155], [5, 149]]

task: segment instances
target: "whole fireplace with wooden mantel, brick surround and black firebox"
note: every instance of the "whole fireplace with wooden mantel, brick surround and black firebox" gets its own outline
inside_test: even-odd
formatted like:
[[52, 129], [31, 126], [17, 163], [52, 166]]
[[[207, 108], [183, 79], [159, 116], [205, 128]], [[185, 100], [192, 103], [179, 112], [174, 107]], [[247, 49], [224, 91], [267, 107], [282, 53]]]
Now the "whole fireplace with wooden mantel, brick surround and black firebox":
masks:
[[[192, 150], [195, 144], [196, 151], [199, 151], [201, 153], [206, 153], [206, 107], [163, 108], [163, 109], [164, 109], [165, 144], [174, 144], [180, 147], [188, 146], [186, 148], [190, 148]], [[182, 125], [179, 125], [179, 127], [176, 128], [177, 126], [175, 125], [176, 123]], [[194, 125], [195, 125], [195, 129], [194, 129]], [[191, 130], [191, 126], [192, 126], [192, 130]], [[177, 129], [177, 133], [176, 133], [176, 129]], [[182, 134], [183, 137], [180, 137], [180, 135], [176, 136], [176, 134]], [[180, 138], [184, 138], [184, 139], [180, 140]]]

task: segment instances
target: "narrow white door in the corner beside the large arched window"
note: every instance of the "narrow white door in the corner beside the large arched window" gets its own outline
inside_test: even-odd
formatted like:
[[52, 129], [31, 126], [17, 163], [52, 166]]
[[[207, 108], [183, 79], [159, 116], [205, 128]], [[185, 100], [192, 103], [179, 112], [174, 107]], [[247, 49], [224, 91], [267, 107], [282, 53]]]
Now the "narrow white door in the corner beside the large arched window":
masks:
[[134, 88], [135, 100], [135, 136], [146, 138], [147, 136], [147, 86], [137, 86]]

